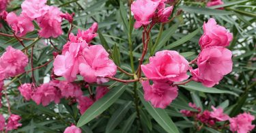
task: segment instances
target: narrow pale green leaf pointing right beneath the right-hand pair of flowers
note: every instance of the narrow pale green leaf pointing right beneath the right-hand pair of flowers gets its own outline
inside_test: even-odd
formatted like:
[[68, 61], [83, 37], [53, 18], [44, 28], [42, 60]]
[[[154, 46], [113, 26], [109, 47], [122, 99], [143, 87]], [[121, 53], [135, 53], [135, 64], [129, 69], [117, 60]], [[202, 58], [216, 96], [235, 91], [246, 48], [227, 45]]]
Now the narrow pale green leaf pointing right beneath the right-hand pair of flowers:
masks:
[[185, 89], [188, 89], [188, 90], [193, 90], [193, 91], [201, 91], [205, 93], [229, 93], [229, 94], [238, 96], [237, 93], [234, 93], [232, 91], [216, 89], [214, 87], [204, 87], [203, 85], [201, 85], [201, 83], [190, 82], [190, 83], [187, 83], [186, 85], [179, 85], [179, 86], [184, 87]]

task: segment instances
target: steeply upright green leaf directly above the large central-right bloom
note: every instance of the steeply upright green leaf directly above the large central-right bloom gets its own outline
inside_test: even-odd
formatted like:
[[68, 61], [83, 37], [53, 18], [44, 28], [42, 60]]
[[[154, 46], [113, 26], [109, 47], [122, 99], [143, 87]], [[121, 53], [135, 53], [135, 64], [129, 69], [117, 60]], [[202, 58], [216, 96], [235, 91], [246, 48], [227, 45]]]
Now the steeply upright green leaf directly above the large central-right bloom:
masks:
[[160, 48], [165, 46], [167, 41], [171, 38], [171, 36], [175, 33], [175, 31], [179, 27], [179, 25], [180, 25], [180, 23], [175, 23], [169, 29], [166, 29], [165, 31], [163, 31], [162, 38], [160, 39], [159, 44], [158, 45], [154, 45], [154, 47], [153, 47], [154, 52], [160, 50]]

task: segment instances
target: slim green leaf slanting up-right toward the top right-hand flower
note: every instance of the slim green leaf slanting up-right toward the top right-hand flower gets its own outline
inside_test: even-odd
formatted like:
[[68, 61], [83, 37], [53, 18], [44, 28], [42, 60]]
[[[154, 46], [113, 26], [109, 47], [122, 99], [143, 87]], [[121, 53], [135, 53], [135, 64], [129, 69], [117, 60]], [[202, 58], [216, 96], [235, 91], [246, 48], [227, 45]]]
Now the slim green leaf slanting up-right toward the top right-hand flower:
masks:
[[191, 38], [193, 38], [195, 35], [197, 35], [197, 33], [199, 33], [200, 29], [197, 29], [195, 31], [193, 31], [192, 33], [189, 33], [188, 35], [184, 36], [183, 38], [181, 38], [180, 40], [177, 40], [169, 45], [167, 45], [165, 47], [165, 49], [171, 49], [174, 48], [176, 46], [180, 46], [181, 44], [184, 44], [185, 42], [188, 42], [188, 40], [190, 40]]

